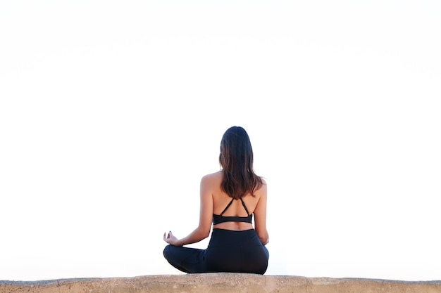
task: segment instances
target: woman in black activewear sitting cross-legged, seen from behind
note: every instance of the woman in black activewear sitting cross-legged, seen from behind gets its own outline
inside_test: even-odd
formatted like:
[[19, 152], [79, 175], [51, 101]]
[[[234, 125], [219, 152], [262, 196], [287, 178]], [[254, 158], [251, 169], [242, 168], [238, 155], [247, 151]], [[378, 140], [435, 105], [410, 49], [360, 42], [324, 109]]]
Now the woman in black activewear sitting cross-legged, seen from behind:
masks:
[[[164, 233], [167, 261], [185, 273], [258, 273], [268, 267], [266, 182], [254, 174], [247, 131], [233, 126], [223, 134], [221, 171], [201, 179], [199, 226], [181, 239]], [[254, 214], [254, 227], [252, 218]], [[206, 249], [183, 247], [209, 237]]]

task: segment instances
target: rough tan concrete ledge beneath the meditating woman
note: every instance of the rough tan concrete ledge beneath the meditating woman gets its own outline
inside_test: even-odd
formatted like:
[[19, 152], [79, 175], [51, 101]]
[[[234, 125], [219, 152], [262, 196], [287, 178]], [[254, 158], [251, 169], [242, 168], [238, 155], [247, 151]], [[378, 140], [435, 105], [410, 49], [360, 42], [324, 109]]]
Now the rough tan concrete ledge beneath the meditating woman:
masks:
[[0, 293], [441, 293], [441, 281], [304, 278], [242, 273], [146, 275], [135, 278], [85, 278], [36, 282], [0, 281]]

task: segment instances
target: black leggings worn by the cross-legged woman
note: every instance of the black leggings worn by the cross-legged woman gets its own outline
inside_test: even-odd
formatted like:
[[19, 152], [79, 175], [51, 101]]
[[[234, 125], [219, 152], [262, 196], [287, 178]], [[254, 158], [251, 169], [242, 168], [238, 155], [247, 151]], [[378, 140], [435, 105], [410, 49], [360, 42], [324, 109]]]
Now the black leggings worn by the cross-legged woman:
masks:
[[167, 261], [185, 273], [257, 273], [268, 267], [269, 252], [254, 229], [213, 229], [209, 247], [196, 249], [167, 245]]

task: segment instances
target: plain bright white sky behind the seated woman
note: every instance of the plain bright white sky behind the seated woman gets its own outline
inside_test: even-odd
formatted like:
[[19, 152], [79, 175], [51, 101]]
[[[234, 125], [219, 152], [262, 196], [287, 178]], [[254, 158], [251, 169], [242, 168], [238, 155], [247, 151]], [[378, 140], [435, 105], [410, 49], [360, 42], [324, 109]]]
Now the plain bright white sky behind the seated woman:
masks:
[[[179, 273], [243, 126], [268, 275], [441, 279], [439, 1], [2, 1], [0, 280]], [[193, 247], [206, 247], [204, 240]]]

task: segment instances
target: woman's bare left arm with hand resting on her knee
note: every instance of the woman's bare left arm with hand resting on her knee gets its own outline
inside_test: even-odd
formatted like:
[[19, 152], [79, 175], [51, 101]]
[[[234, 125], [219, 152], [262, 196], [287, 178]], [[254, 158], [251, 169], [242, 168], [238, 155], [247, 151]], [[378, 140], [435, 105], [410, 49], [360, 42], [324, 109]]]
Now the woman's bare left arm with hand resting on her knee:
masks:
[[200, 210], [199, 210], [199, 226], [192, 233], [178, 239], [171, 232], [164, 233], [164, 241], [170, 245], [183, 246], [204, 240], [209, 237], [211, 230], [211, 222], [213, 220], [213, 196], [211, 195], [211, 180], [208, 176], [201, 179], [200, 188]]

